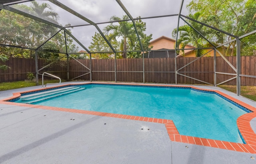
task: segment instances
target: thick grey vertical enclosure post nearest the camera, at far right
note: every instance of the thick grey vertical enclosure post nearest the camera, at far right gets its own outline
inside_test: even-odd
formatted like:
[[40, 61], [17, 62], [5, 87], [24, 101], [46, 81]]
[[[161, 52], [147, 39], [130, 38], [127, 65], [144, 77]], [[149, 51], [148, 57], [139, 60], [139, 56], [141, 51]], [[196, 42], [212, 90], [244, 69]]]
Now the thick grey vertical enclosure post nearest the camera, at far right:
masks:
[[239, 38], [236, 39], [236, 94], [241, 94], [241, 47]]

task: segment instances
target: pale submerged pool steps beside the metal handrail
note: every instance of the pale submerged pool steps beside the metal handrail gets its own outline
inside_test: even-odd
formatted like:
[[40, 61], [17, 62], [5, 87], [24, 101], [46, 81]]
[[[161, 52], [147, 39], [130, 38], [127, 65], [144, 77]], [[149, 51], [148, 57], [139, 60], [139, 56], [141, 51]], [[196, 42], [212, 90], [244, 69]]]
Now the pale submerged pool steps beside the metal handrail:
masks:
[[23, 101], [25, 103], [34, 103], [34, 102], [40, 102], [43, 100], [54, 98], [57, 96], [62, 96], [64, 94], [70, 94], [70, 93], [77, 92], [77, 91], [84, 90], [84, 89], [86, 89], [86, 88], [76, 87], [76, 86], [65, 87], [65, 88], [59, 88], [56, 90], [49, 90], [49, 91], [44, 91], [44, 92], [38, 92], [35, 94], [28, 94], [28, 95], [20, 96], [20, 99], [21, 99], [21, 101]]

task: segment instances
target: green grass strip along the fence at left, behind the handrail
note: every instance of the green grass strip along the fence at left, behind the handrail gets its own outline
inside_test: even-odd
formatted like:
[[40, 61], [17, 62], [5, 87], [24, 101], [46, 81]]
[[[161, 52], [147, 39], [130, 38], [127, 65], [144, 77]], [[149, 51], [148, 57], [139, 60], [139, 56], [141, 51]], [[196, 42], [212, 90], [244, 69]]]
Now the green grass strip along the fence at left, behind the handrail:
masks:
[[[44, 84], [46, 83], [58, 83], [59, 80], [44, 80]], [[62, 80], [64, 82], [64, 80]], [[39, 85], [42, 85], [42, 80], [39, 80]], [[3, 90], [12, 90], [17, 88], [25, 88], [29, 86], [36, 86], [36, 82], [31, 81], [16, 81], [16, 82], [1, 82], [0, 83], [0, 91]]]

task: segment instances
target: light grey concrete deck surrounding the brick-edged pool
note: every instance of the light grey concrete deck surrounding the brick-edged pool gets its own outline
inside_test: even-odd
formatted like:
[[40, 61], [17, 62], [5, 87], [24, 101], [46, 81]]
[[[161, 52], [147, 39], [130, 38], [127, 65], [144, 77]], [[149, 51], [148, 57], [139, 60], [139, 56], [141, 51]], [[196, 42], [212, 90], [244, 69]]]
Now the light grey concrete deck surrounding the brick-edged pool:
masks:
[[[255, 102], [221, 88], [196, 87], [219, 90], [256, 107]], [[0, 100], [12, 97], [15, 92], [36, 89], [41, 89], [41, 86], [1, 91]], [[0, 102], [0, 118], [0, 163], [256, 162], [256, 154], [171, 141], [163, 123], [39, 109], [3, 102]], [[256, 118], [250, 121], [250, 126], [255, 133]]]

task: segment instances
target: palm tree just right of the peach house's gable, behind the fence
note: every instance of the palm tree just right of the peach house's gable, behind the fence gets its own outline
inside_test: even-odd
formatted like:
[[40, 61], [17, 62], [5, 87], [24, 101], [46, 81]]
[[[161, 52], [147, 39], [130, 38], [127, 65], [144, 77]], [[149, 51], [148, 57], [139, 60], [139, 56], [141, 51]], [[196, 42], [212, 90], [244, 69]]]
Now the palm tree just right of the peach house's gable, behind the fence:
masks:
[[[189, 14], [189, 17], [198, 20], [200, 13], [197, 12], [194, 15]], [[192, 27], [194, 27], [202, 35], [206, 36], [212, 33], [212, 30], [204, 28], [204, 25], [196, 23], [195, 21], [188, 21]], [[192, 29], [189, 25], [182, 25], [179, 27], [179, 39], [177, 40], [176, 48], [179, 47], [184, 49], [186, 45], [192, 45], [196, 48], [203, 48], [206, 43], [208, 43], [196, 30]], [[172, 31], [172, 37], [176, 37], [177, 28]], [[204, 54], [203, 49], [194, 50], [196, 57], [200, 57]], [[184, 55], [184, 50], [182, 50]]]

